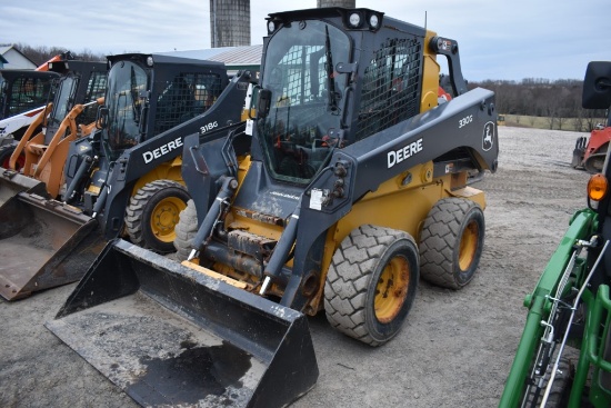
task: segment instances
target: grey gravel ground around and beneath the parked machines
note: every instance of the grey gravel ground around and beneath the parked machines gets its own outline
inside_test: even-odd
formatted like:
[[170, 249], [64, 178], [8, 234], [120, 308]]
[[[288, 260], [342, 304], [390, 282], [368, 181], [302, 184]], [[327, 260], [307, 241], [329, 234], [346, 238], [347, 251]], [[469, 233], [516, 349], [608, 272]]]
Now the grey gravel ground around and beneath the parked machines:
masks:
[[[292, 406], [494, 407], [522, 331], [524, 295], [585, 206], [573, 170], [583, 133], [501, 127], [499, 170], [487, 192], [487, 236], [473, 281], [459, 291], [420, 282], [402, 331], [371, 348], [310, 318], [320, 377]], [[24, 255], [27, 256], [27, 255]], [[1, 261], [1, 260], [0, 260]], [[136, 407], [43, 327], [74, 285], [0, 300], [0, 407]]]

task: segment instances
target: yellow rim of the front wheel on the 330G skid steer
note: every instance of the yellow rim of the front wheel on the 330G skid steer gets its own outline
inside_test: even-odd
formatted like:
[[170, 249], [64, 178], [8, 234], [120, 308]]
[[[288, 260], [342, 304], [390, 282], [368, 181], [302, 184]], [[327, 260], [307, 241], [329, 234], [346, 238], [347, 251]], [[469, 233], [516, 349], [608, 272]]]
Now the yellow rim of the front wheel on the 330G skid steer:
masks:
[[408, 295], [410, 266], [403, 257], [394, 257], [387, 263], [375, 286], [375, 317], [382, 324], [392, 321]]

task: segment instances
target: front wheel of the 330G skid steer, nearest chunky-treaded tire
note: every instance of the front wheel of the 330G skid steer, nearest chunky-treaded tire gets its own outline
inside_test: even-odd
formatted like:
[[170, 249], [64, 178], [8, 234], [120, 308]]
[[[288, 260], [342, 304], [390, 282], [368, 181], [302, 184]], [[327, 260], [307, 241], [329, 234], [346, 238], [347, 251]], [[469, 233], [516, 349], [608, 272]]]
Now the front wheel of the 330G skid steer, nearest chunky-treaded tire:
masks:
[[354, 229], [333, 255], [327, 273], [327, 320], [370, 346], [389, 341], [415, 298], [418, 258], [407, 232], [368, 225]]

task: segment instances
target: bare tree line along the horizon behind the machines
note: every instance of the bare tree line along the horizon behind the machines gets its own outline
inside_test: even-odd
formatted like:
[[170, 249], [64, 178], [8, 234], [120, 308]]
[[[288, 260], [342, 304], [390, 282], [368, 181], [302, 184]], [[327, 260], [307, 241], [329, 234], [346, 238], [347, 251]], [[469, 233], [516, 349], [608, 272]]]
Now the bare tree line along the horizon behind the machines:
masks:
[[[60, 47], [30, 47], [24, 43], [17, 43], [16, 48], [36, 64], [67, 51]], [[84, 61], [106, 61], [104, 54], [90, 50], [72, 56]], [[604, 122], [607, 117], [604, 110], [581, 108], [582, 80], [525, 78], [521, 81], [469, 82], [470, 89], [475, 87], [494, 91], [497, 111], [513, 116], [518, 125], [523, 121], [522, 125], [532, 127], [537, 118], [543, 118], [549, 129], [590, 132], [598, 123]]]

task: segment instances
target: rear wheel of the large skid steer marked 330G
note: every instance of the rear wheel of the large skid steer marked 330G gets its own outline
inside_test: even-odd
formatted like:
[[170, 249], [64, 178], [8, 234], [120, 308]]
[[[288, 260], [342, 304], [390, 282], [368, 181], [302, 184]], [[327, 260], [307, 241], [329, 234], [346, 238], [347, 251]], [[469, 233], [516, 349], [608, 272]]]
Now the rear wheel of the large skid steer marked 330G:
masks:
[[480, 262], [484, 227], [478, 203], [461, 198], [439, 200], [420, 235], [422, 278], [451, 289], [469, 283]]

